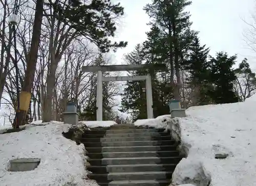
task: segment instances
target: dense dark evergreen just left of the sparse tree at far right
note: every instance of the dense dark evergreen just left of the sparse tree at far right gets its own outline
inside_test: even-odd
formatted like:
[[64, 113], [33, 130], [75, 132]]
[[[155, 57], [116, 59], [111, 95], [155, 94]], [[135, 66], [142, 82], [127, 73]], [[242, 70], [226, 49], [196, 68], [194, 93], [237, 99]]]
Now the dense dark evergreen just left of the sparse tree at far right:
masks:
[[217, 53], [215, 58], [210, 57], [210, 81], [215, 88], [209, 94], [216, 104], [239, 101], [233, 88], [236, 75], [232, 66], [236, 59], [236, 55], [228, 57], [227, 53], [224, 52]]

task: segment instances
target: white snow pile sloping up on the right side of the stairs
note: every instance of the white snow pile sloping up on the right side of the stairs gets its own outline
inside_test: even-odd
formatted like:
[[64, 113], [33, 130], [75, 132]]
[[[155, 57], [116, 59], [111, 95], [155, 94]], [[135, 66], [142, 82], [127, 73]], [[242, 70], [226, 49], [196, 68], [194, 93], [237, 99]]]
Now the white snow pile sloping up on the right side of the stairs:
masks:
[[[256, 185], [255, 105], [253, 96], [242, 103], [190, 107], [186, 118], [148, 120], [149, 126], [171, 130], [187, 155], [173, 173], [173, 184]], [[227, 157], [216, 158], [220, 155]]]

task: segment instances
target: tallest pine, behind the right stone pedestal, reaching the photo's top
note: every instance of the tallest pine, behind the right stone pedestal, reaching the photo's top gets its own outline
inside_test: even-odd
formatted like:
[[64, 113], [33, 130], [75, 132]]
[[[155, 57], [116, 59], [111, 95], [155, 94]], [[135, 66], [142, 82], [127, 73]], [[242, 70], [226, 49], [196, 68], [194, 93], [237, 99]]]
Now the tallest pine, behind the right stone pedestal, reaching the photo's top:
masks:
[[144, 7], [152, 19], [149, 24], [152, 26], [151, 33], [158, 34], [155, 51], [161, 53], [162, 62], [170, 67], [170, 85], [175, 92], [175, 99], [178, 100], [181, 88], [180, 63], [188, 43], [195, 35], [189, 29], [190, 15], [184, 10], [190, 4], [186, 0], [153, 0], [152, 4]]

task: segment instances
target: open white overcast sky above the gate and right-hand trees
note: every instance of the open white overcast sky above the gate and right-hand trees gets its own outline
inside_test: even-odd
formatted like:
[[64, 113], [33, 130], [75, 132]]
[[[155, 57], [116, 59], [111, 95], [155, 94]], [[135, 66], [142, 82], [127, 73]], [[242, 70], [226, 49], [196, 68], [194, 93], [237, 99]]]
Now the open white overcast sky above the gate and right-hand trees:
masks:
[[[119, 49], [114, 54], [115, 62], [121, 64], [123, 55], [133, 51], [137, 43], [146, 39], [145, 32], [149, 21], [143, 7], [151, 0], [117, 0], [124, 7], [125, 16], [118, 28], [116, 40], [128, 41], [125, 49]], [[238, 54], [238, 62], [244, 57], [256, 56], [246, 49], [243, 33], [248, 26], [242, 20], [250, 21], [254, 0], [192, 0], [188, 8], [193, 21], [192, 28], [199, 31], [202, 44], [210, 48], [210, 55], [218, 51], [226, 51], [229, 55]], [[256, 12], [256, 11], [255, 11]], [[248, 57], [249, 58], [249, 57]], [[256, 67], [256, 59], [249, 58], [252, 66]]]

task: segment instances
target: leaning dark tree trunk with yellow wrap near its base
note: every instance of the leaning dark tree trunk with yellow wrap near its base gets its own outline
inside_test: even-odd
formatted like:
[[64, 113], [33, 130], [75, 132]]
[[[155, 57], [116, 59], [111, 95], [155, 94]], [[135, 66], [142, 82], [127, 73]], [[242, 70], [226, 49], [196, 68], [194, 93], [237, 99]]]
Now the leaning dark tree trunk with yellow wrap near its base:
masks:
[[30, 106], [31, 89], [35, 75], [38, 46], [41, 35], [42, 15], [44, 12], [44, 0], [36, 0], [35, 18], [30, 45], [29, 60], [23, 81], [22, 91], [20, 92], [20, 110], [16, 111], [13, 127], [18, 128], [25, 125], [27, 112]]

